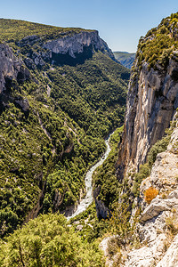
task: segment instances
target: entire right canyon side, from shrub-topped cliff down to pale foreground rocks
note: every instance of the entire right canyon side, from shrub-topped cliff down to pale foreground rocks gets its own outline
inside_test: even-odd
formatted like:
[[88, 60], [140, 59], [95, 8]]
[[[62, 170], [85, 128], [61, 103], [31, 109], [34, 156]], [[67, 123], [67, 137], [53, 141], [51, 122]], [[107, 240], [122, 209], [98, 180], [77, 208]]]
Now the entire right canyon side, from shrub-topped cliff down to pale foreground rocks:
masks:
[[[101, 242], [109, 266], [177, 266], [177, 25], [175, 13], [140, 40], [115, 173], [109, 165], [109, 177], [117, 182], [110, 190], [98, 186], [98, 212], [112, 214], [114, 235]], [[98, 170], [96, 179], [106, 173]]]

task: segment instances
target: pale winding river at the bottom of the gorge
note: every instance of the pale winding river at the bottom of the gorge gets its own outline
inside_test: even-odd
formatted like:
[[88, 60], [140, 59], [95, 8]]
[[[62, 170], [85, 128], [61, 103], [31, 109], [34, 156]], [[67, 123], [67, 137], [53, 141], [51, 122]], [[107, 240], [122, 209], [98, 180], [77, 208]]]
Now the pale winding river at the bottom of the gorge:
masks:
[[94, 166], [92, 166], [89, 171], [86, 173], [85, 175], [85, 189], [86, 189], [86, 195], [85, 195], [85, 198], [81, 200], [81, 202], [78, 204], [77, 206], [77, 210], [74, 214], [72, 214], [71, 216], [68, 216], [68, 220], [75, 217], [77, 214], [80, 214], [82, 212], [85, 211], [85, 209], [90, 206], [90, 204], [92, 204], [93, 202], [93, 188], [92, 188], [92, 175], [93, 175], [93, 172], [95, 171], [95, 169], [98, 167], [98, 166], [101, 166], [102, 163], [104, 162], [104, 160], [106, 158], [108, 158], [109, 156], [109, 152], [110, 152], [110, 147], [109, 147], [109, 138], [110, 138], [110, 135], [109, 134], [109, 137], [108, 139], [105, 140], [105, 143], [106, 143], [106, 151], [104, 153], [104, 155], [102, 156], [102, 158], [100, 159], [100, 161], [98, 161]]

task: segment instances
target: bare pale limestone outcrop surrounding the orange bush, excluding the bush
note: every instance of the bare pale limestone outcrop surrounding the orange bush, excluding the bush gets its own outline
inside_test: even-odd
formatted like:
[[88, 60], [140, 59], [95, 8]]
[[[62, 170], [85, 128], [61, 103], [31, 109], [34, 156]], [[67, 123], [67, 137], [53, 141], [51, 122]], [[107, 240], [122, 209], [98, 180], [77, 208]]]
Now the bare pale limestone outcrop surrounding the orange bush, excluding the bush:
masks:
[[[174, 234], [178, 223], [177, 138], [176, 124], [167, 150], [158, 154], [150, 177], [142, 181], [139, 202], [135, 201], [136, 207], [142, 207], [140, 223], [137, 223], [136, 228], [142, 248], [129, 252], [124, 266], [176, 266], [178, 245]], [[150, 187], [156, 188], [159, 193], [148, 204], [144, 192]], [[147, 246], [144, 246], [145, 242]]]

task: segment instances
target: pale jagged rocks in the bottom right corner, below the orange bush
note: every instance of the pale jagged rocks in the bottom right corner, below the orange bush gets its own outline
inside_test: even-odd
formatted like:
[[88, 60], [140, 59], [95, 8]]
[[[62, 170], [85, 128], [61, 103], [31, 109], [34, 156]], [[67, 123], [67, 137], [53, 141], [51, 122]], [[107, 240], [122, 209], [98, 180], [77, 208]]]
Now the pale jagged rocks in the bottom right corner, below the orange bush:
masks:
[[[176, 266], [173, 263], [177, 263], [177, 236], [172, 240], [173, 235], [167, 230], [169, 221], [173, 225], [177, 223], [178, 199], [175, 197], [177, 190], [174, 198], [153, 199], [143, 211], [143, 224], [137, 225], [142, 247], [129, 252], [123, 266]], [[145, 242], [147, 246], [143, 245]]]

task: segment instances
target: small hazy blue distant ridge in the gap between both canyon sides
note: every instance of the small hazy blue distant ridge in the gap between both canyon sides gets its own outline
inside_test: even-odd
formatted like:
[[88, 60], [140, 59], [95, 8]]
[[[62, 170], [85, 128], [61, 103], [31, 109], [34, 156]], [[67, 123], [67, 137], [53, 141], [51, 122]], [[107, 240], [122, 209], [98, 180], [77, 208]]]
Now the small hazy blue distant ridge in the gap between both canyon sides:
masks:
[[135, 53], [121, 52], [116, 51], [113, 52], [117, 61], [119, 61], [125, 68], [131, 69], [134, 63]]

